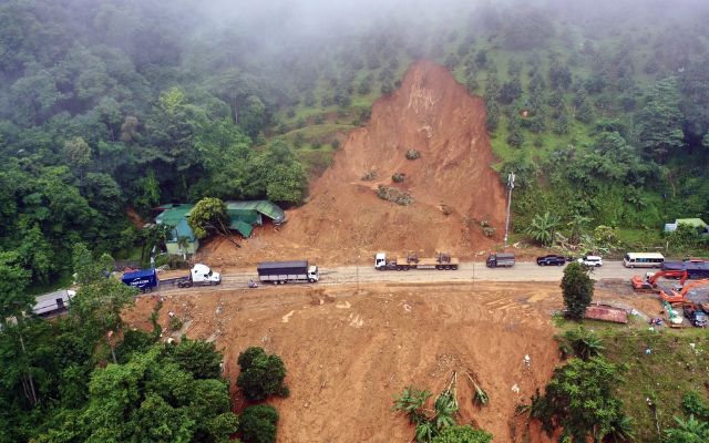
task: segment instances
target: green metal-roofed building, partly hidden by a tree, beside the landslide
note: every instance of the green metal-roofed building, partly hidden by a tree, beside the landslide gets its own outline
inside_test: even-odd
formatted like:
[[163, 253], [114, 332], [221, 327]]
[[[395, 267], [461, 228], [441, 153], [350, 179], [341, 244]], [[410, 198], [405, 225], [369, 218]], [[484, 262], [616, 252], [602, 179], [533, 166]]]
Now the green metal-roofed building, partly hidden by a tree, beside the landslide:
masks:
[[[244, 238], [250, 237], [255, 225], [261, 226], [264, 224], [263, 216], [270, 218], [276, 225], [286, 222], [286, 213], [278, 205], [268, 200], [225, 202], [225, 205], [227, 217], [229, 217], [229, 229], [236, 230]], [[194, 207], [195, 205], [192, 203], [175, 203], [155, 208], [161, 210], [160, 215], [155, 217], [155, 223], [173, 228], [172, 237], [165, 241], [168, 254], [183, 254], [177, 247], [177, 238], [179, 237], [187, 237], [188, 239], [186, 254], [195, 254], [197, 251], [199, 240], [195, 237], [187, 223], [189, 213]]]

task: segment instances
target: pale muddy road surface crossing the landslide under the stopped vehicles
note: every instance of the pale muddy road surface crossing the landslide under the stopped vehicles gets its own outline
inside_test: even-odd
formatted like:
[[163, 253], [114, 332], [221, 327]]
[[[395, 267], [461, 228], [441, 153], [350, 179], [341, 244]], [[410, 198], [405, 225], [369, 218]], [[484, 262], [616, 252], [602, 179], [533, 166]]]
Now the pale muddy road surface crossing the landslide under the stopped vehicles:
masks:
[[[472, 282], [472, 281], [561, 281], [563, 266], [537, 266], [535, 262], [517, 262], [512, 268], [487, 268], [483, 261], [463, 262], [458, 270], [374, 270], [373, 266], [320, 267], [320, 281], [315, 285], [351, 285], [367, 282]], [[628, 269], [623, 261], [605, 261], [600, 268], [594, 268], [592, 277], [600, 279], [628, 280], [653, 269]], [[223, 275], [219, 289], [245, 288], [248, 280], [258, 281], [256, 269], [253, 271]], [[217, 289], [215, 288], [215, 289]]]

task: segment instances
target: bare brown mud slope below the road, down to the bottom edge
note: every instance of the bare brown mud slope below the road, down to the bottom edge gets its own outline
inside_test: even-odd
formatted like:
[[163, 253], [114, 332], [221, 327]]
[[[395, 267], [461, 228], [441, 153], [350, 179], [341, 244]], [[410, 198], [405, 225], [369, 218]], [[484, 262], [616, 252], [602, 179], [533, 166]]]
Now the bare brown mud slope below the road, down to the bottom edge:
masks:
[[[166, 296], [158, 321], [174, 312], [176, 333], [215, 340], [234, 389], [237, 357], [249, 346], [281, 356], [288, 369], [287, 399], [278, 408], [278, 442], [409, 442], [413, 427], [391, 412], [407, 385], [438, 394], [459, 371], [460, 423], [491, 431], [495, 442], [547, 442], [515, 419], [558, 361], [549, 312], [561, 306], [556, 284], [459, 286], [371, 285], [259, 288]], [[150, 329], [154, 306], [141, 298], [124, 315]], [[167, 333], [167, 329], [164, 329]], [[524, 364], [524, 356], [531, 365]], [[473, 405], [469, 372], [487, 392], [489, 405]], [[527, 434], [526, 436], [524, 434]]]

